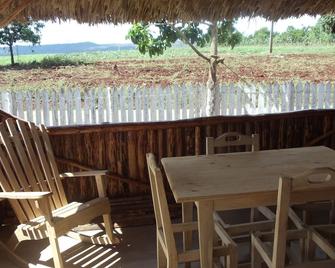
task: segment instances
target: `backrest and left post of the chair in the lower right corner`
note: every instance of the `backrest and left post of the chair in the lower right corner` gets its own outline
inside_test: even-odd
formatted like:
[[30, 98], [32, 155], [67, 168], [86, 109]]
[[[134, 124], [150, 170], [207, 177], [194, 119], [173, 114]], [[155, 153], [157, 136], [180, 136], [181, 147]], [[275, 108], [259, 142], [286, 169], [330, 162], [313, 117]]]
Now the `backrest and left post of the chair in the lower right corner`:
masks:
[[312, 195], [313, 190], [334, 189], [335, 170], [329, 167], [314, 168], [295, 177], [279, 178], [275, 236], [273, 245], [273, 267], [284, 267], [286, 252], [286, 233], [291, 193], [299, 191]]

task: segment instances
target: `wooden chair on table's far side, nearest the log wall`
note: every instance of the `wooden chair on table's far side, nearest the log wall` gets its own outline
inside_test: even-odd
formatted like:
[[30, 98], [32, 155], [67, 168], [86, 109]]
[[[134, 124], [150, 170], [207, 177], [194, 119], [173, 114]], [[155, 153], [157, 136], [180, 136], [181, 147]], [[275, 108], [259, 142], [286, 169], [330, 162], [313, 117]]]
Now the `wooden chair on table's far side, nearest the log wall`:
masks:
[[[251, 148], [252, 152], [259, 151], [259, 135], [252, 134], [251, 136], [242, 135], [238, 132], [227, 132], [217, 138], [206, 138], [206, 155], [215, 154], [216, 148], [233, 147], [233, 146], [247, 146]], [[262, 214], [266, 220], [254, 221], [255, 213]], [[236, 214], [236, 213], [235, 213]], [[275, 214], [267, 207], [258, 207], [257, 210], [251, 208], [250, 221], [241, 224], [229, 224], [224, 220], [225, 212], [215, 213], [215, 218], [226, 229], [231, 236], [240, 236], [243, 234], [250, 234], [256, 230], [271, 230], [274, 227]]]

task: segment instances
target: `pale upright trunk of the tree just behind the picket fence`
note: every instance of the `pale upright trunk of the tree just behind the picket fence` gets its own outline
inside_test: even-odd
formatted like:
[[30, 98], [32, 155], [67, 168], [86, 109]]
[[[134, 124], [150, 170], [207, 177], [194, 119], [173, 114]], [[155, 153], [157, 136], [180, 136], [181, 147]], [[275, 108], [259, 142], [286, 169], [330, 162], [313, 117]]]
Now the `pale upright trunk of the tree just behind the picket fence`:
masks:
[[217, 83], [218, 65], [218, 28], [217, 22], [213, 21], [211, 27], [211, 56], [209, 61], [209, 74], [207, 80], [206, 114], [214, 116], [219, 114], [219, 88]]

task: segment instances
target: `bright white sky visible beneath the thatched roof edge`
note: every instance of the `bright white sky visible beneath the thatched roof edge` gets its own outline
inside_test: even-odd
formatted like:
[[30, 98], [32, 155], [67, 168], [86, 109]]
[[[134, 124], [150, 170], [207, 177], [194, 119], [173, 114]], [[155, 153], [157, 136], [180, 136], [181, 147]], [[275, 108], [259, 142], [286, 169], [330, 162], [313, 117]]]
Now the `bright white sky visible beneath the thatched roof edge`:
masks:
[[[315, 25], [318, 17], [302, 16], [278, 21], [274, 26], [274, 31], [283, 32], [290, 25], [295, 28]], [[237, 30], [249, 35], [262, 27], [270, 27], [270, 22], [263, 18], [243, 18], [239, 19], [235, 25]], [[97, 44], [130, 43], [126, 40], [126, 35], [131, 27], [130, 24], [99, 24], [89, 26], [88, 24], [78, 24], [75, 21], [52, 23], [46, 22], [42, 30], [41, 45], [94, 42]]]

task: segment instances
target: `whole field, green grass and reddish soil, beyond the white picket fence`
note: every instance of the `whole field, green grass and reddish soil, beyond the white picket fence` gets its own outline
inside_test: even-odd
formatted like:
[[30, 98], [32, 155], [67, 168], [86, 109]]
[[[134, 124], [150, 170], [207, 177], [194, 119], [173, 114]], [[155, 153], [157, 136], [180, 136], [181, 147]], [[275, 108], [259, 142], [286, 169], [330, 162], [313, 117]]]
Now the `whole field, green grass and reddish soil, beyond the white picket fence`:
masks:
[[[220, 48], [226, 66], [220, 66], [221, 81], [283, 80], [334, 81], [335, 46], [275, 46], [269, 55], [265, 46]], [[208, 48], [203, 48], [208, 53]], [[102, 85], [150, 85], [205, 82], [207, 63], [189, 48], [173, 48], [150, 58], [137, 50], [22, 55], [19, 65], [9, 66], [0, 57], [0, 89], [59, 89]], [[233, 71], [232, 71], [233, 70]]]

